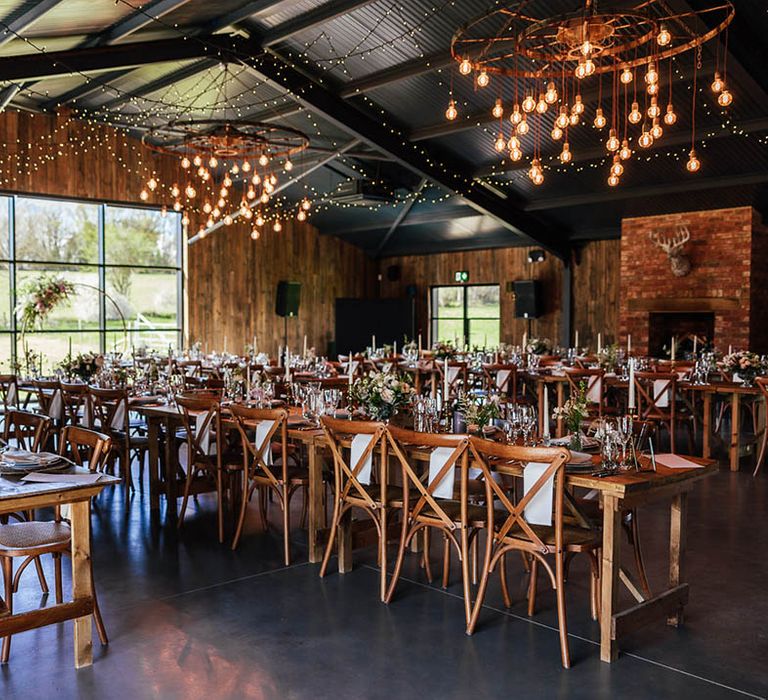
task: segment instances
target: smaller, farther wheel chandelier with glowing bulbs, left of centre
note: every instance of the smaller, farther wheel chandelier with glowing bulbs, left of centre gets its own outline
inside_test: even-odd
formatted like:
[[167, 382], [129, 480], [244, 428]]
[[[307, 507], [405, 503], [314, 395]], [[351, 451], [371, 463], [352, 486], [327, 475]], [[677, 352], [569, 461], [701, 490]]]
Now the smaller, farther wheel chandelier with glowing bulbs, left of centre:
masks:
[[[277, 173], [293, 170], [291, 159], [309, 148], [309, 137], [298, 129], [242, 119], [175, 120], [153, 127], [142, 142], [178, 163], [172, 182], [161, 182], [152, 174], [139, 194], [142, 201], [153, 198], [183, 211], [185, 226], [189, 224], [186, 210], [196, 208], [208, 216], [206, 226], [211, 227], [219, 219], [233, 223], [232, 215], [224, 212], [239, 195], [240, 215], [254, 220], [253, 238], [258, 238], [264, 225], [263, 209], [278, 186]], [[301, 201], [299, 221], [307, 218], [310, 207], [308, 199]], [[273, 228], [281, 228], [279, 215]]]

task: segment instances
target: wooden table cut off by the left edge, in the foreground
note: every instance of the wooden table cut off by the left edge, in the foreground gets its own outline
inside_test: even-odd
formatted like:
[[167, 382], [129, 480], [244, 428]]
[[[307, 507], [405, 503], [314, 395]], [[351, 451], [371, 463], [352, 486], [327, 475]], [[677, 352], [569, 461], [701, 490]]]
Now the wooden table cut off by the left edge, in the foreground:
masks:
[[[72, 473], [88, 474], [87, 469]], [[120, 479], [102, 475], [95, 484], [26, 483], [18, 477], [0, 477], [0, 515], [70, 503], [72, 527], [72, 601], [28, 612], [11, 613], [0, 598], [0, 637], [53, 625], [75, 623], [75, 668], [93, 663], [93, 579], [91, 577], [91, 498]], [[35, 663], [33, 659], [30, 663]]]

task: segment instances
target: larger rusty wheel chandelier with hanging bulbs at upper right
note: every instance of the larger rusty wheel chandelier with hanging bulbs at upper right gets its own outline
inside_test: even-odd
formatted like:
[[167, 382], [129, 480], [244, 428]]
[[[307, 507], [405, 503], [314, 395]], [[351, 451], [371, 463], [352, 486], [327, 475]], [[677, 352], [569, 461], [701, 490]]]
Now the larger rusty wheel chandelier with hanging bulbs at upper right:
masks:
[[[633, 148], [650, 148], [665, 128], [677, 122], [672, 61], [690, 52], [693, 97], [686, 169], [697, 172], [701, 163], [695, 149], [696, 86], [702, 46], [725, 33], [725, 48], [717, 50], [712, 91], [718, 104], [728, 107], [733, 102], [727, 82], [727, 29], [735, 16], [733, 3], [711, 2], [702, 9], [676, 13], [665, 0], [584, 0], [574, 11], [551, 17], [536, 11], [543, 5], [508, 1], [465, 24], [451, 40], [458, 72], [472, 77], [478, 90], [497, 91], [491, 110], [499, 121], [495, 150], [520, 161], [527, 146], [528, 176], [535, 185], [542, 184], [542, 134], [562, 142], [559, 159], [570, 163], [569, 131], [586, 122], [582, 96], [586, 88], [597, 97], [593, 126], [608, 127], [605, 148], [612, 161], [608, 184], [618, 185], [623, 161], [632, 157]], [[603, 83], [608, 83], [605, 90]], [[506, 104], [505, 95], [512, 95]], [[459, 116], [453, 80], [445, 116], [448, 120]]]

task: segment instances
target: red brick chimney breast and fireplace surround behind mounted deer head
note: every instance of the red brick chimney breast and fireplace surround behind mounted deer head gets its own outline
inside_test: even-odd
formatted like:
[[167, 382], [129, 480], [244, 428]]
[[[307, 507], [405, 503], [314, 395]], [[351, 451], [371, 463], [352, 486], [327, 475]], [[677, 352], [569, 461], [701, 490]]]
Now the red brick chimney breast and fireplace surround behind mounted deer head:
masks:
[[[675, 277], [670, 262], [649, 239], [686, 226], [684, 253], [691, 262]], [[638, 353], [649, 351], [651, 323], [673, 317], [681, 327], [714, 314], [720, 350], [749, 347], [768, 352], [768, 229], [751, 207], [624, 219], [621, 226], [621, 342], [632, 334]], [[686, 318], [689, 316], [689, 318]], [[652, 348], [654, 350], [654, 348]]]

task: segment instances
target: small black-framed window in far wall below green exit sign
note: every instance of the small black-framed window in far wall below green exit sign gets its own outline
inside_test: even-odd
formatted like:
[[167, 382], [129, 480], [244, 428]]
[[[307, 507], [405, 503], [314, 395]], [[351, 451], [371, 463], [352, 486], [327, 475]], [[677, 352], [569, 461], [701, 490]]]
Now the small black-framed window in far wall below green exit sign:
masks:
[[494, 347], [500, 338], [498, 284], [458, 284], [430, 289], [432, 338], [470, 347]]

